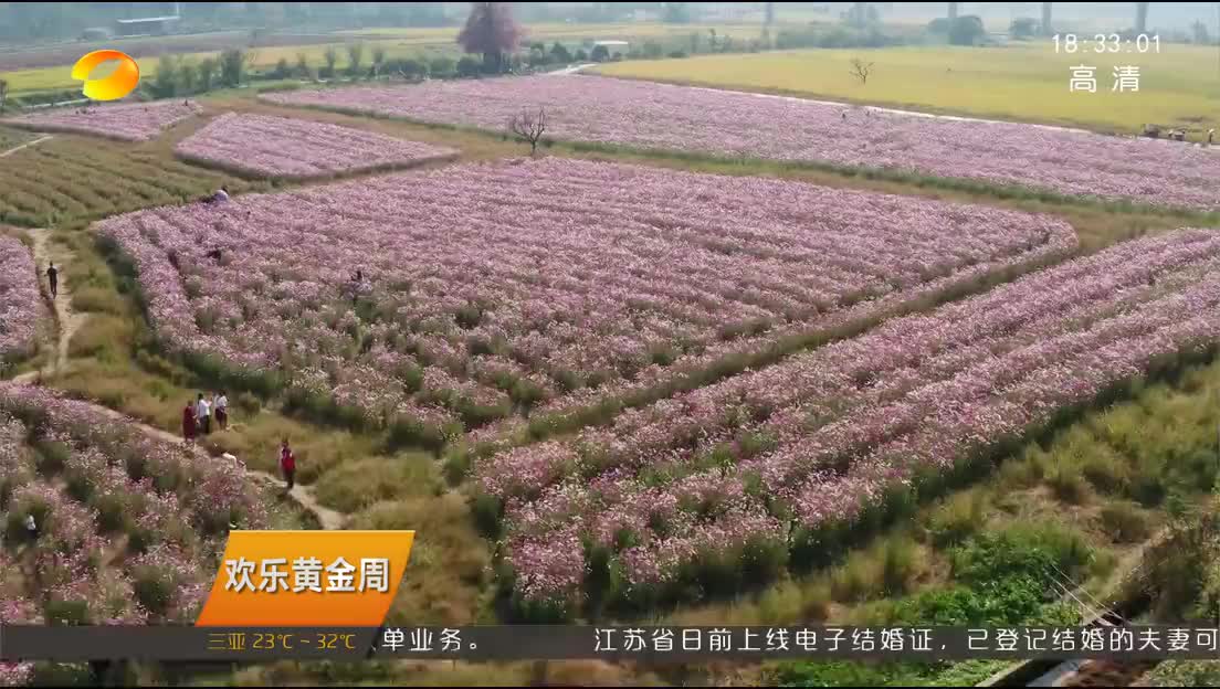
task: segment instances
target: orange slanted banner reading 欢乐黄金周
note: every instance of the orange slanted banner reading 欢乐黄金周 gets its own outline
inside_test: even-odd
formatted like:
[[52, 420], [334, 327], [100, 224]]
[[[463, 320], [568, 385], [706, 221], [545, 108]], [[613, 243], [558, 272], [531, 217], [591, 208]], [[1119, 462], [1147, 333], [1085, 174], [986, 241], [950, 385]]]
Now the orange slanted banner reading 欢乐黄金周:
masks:
[[232, 532], [198, 627], [379, 627], [415, 532]]

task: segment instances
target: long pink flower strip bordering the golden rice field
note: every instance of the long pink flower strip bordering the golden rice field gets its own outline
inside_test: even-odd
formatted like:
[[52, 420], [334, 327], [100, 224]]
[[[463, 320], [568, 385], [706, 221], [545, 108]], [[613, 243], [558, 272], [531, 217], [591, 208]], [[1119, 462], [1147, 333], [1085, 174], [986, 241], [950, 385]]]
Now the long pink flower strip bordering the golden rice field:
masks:
[[1214, 209], [1220, 198], [1220, 157], [1193, 146], [605, 77], [433, 80], [262, 98], [493, 129], [522, 109], [545, 106], [547, 135], [556, 139], [899, 168], [1152, 204]]

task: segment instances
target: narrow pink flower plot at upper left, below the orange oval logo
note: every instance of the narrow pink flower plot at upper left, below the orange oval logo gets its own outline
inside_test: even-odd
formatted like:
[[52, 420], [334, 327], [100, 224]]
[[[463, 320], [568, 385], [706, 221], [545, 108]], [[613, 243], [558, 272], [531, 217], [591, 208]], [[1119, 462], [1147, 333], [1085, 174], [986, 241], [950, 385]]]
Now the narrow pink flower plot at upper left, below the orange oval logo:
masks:
[[163, 129], [203, 112], [199, 104], [181, 100], [159, 100], [89, 107], [60, 107], [2, 120], [38, 132], [98, 134], [127, 141], [155, 139]]

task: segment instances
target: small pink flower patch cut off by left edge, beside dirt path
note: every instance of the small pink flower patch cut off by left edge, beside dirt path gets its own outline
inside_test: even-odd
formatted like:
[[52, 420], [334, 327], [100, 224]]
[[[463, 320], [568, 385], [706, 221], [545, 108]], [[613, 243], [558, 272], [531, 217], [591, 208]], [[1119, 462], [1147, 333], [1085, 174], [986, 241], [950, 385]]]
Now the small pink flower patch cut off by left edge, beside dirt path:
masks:
[[41, 304], [34, 257], [16, 238], [0, 235], [0, 361], [34, 348]]

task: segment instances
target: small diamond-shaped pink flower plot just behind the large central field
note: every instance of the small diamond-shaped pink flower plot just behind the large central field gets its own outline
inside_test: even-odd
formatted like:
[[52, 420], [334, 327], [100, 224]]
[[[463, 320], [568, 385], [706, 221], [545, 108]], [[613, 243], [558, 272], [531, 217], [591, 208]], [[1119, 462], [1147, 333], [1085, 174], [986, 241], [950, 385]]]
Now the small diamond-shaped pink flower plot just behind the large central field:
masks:
[[406, 167], [458, 155], [454, 149], [338, 124], [235, 112], [212, 120], [174, 151], [239, 173], [293, 179]]

